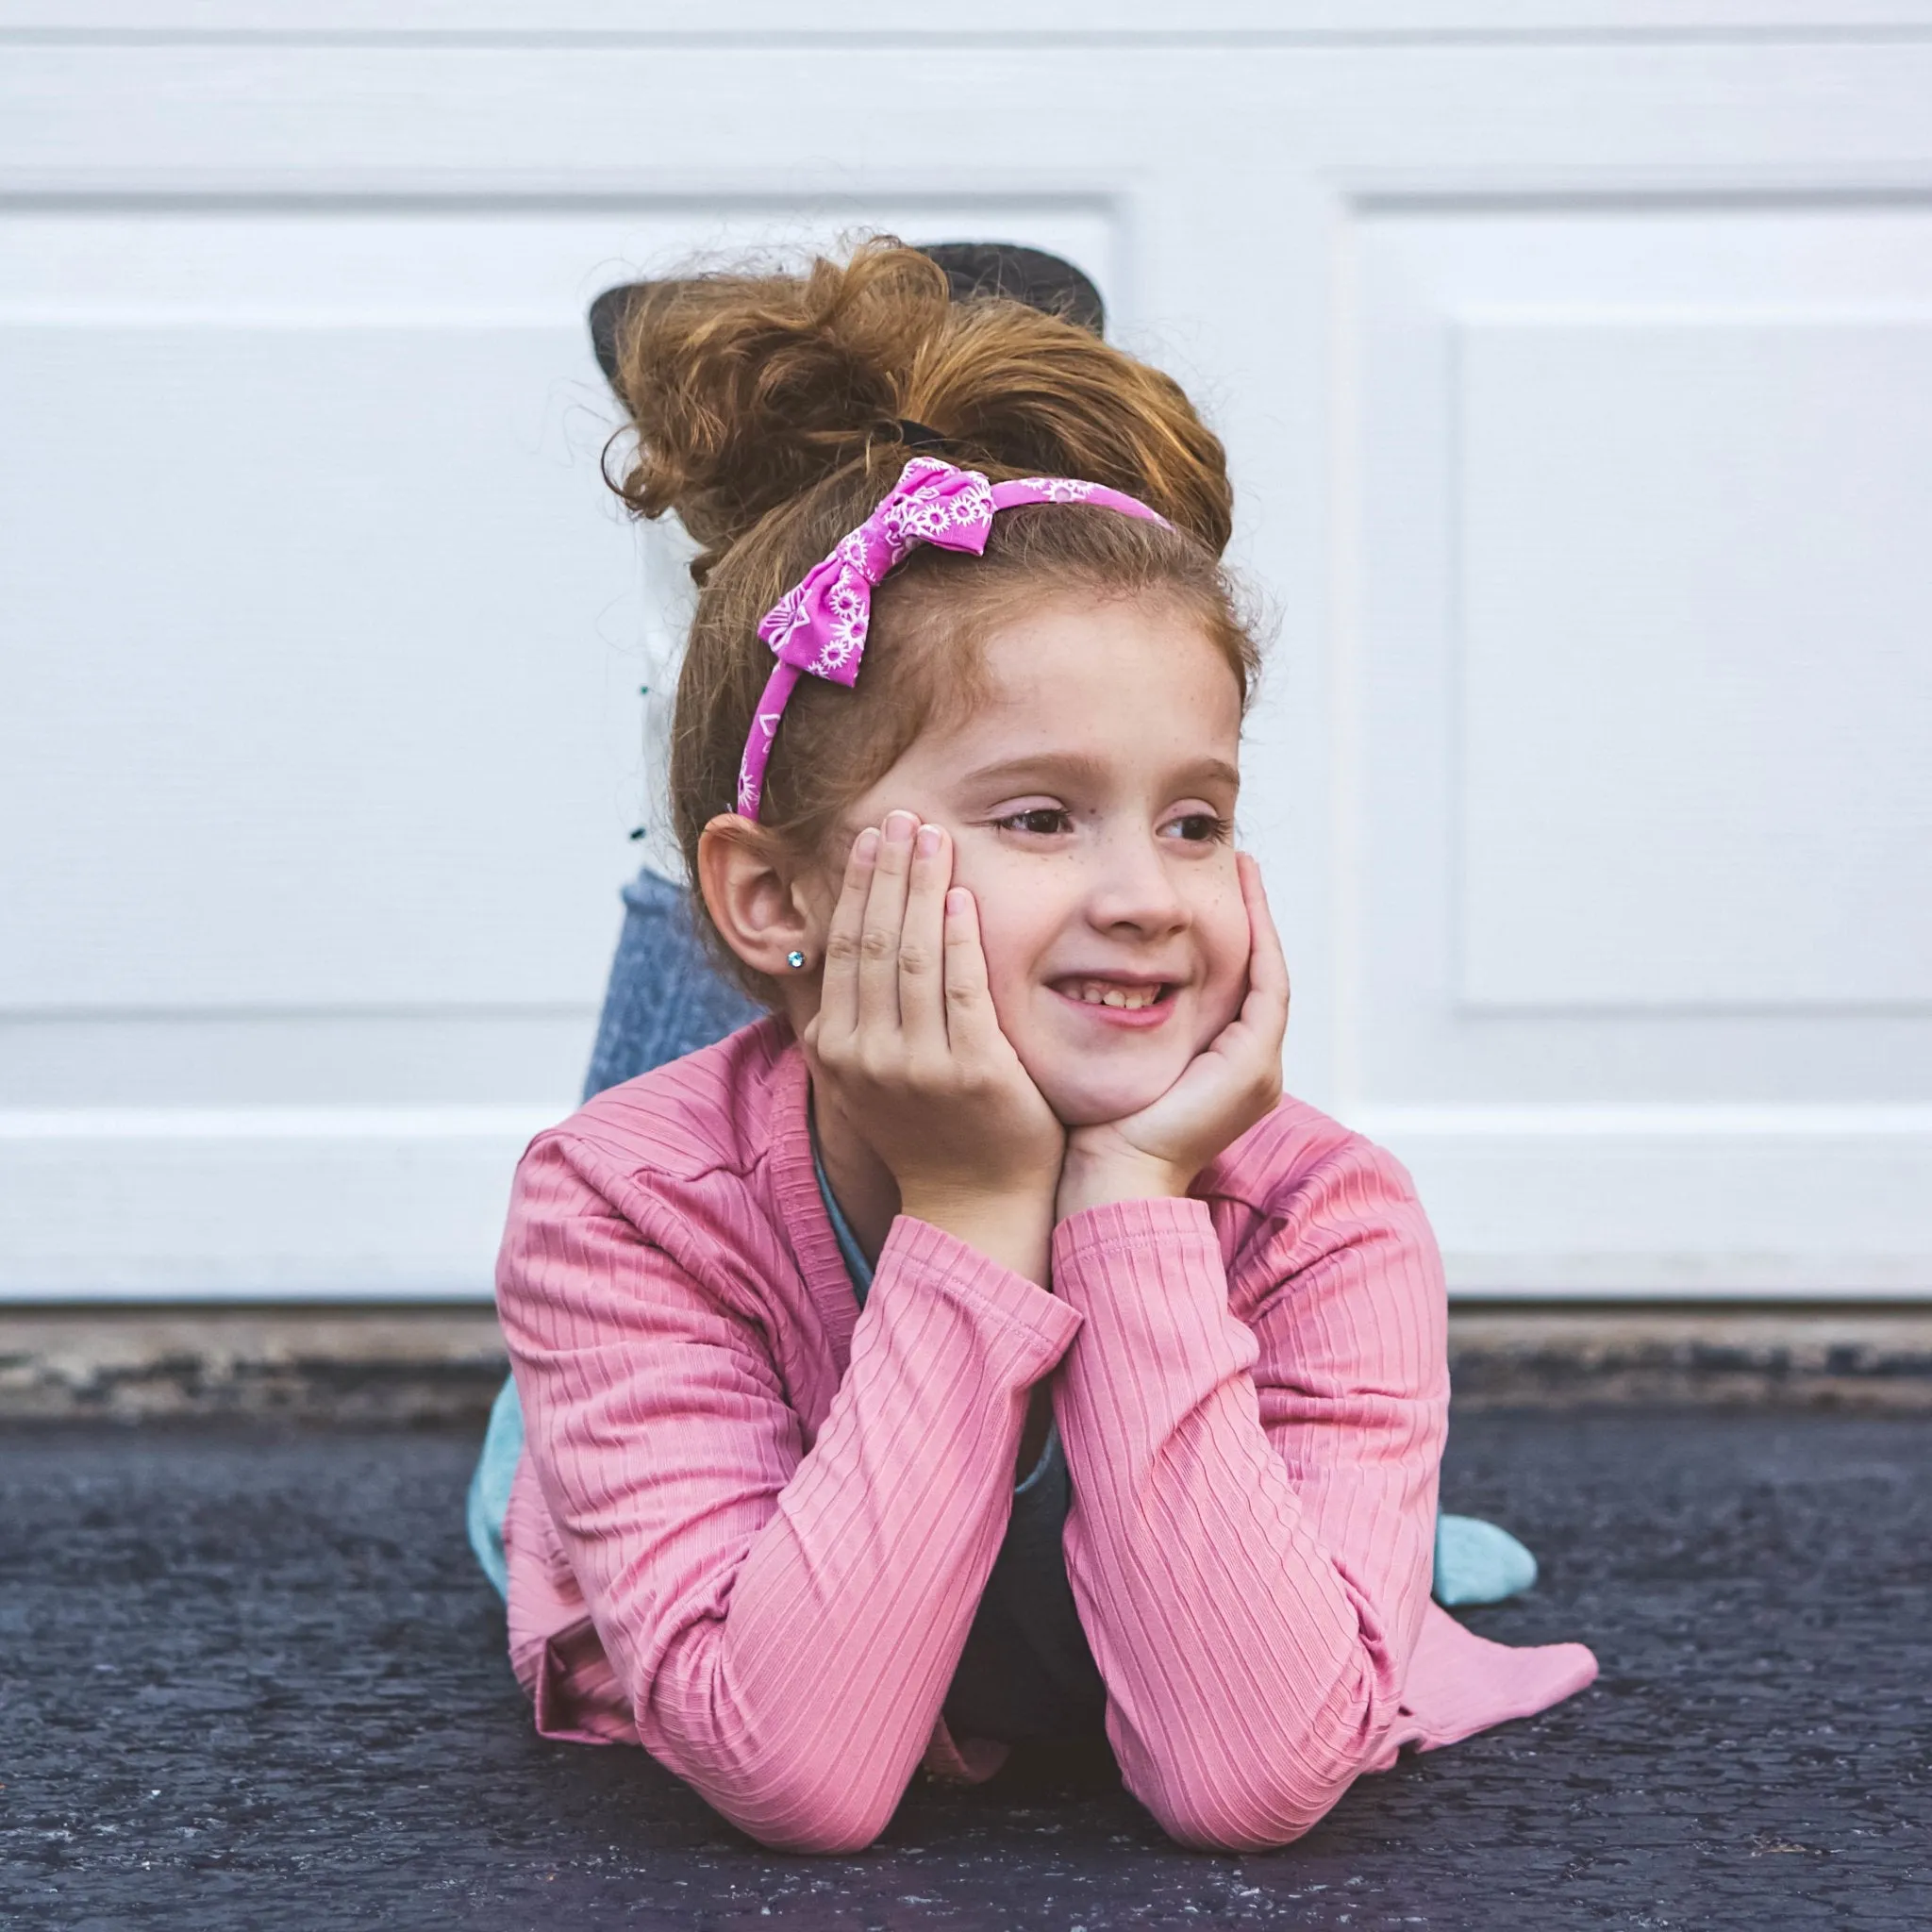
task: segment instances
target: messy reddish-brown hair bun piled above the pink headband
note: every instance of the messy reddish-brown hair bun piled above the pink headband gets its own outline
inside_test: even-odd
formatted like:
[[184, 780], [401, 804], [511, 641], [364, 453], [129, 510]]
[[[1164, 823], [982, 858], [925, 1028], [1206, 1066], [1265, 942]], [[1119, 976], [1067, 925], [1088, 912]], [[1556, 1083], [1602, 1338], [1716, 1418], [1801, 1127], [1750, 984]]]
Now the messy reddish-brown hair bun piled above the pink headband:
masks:
[[638, 433], [614, 487], [638, 516], [676, 512], [699, 583], [827, 477], [896, 473], [908, 421], [956, 462], [1107, 483], [1227, 547], [1219, 440], [1169, 377], [1097, 340], [1097, 292], [1055, 257], [877, 238], [804, 274], [699, 274], [599, 303], [593, 340], [603, 323]]

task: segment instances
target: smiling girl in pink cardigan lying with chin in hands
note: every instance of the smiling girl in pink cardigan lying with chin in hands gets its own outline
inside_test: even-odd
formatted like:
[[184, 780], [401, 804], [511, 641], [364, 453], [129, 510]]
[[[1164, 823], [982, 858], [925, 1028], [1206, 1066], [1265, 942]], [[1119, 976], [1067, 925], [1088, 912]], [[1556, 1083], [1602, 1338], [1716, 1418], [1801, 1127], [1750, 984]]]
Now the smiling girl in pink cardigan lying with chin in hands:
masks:
[[678, 833], [771, 1018], [518, 1171], [539, 1729], [813, 1851], [922, 1760], [1105, 1729], [1173, 1835], [1252, 1849], [1580, 1689], [1430, 1602], [1439, 1264], [1281, 1097], [1186, 398], [891, 245], [667, 284], [624, 371], [626, 495], [703, 545]]

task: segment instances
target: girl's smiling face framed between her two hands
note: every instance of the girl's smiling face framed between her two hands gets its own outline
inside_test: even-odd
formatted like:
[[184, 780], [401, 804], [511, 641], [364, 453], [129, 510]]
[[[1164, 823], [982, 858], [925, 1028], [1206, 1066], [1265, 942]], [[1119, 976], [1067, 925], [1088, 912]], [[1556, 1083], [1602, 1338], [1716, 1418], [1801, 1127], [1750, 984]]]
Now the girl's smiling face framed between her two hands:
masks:
[[1235, 674], [1157, 597], [1041, 605], [987, 639], [985, 670], [989, 701], [922, 734], [846, 833], [904, 810], [952, 835], [1020, 1063], [1066, 1126], [1119, 1121], [1246, 991]]

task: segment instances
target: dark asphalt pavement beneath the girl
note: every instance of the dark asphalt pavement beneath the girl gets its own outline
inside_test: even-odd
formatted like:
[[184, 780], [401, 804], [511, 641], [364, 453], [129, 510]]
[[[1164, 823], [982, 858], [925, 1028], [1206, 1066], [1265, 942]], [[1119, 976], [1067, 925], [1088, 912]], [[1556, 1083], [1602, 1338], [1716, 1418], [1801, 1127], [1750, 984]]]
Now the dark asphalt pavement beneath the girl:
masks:
[[1604, 1675], [1246, 1859], [1065, 1760], [773, 1857], [641, 1752], [541, 1743], [471, 1447], [0, 1434], [0, 1924], [1932, 1926], [1928, 1418], [1461, 1420], [1445, 1505], [1544, 1565], [1470, 1621]]

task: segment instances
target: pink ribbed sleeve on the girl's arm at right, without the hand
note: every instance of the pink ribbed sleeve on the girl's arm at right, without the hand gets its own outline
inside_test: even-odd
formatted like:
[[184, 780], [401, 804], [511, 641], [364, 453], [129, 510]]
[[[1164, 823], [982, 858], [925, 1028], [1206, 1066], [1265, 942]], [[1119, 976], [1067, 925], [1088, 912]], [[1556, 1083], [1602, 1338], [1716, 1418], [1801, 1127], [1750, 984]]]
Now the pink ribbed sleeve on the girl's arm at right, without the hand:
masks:
[[1447, 1430], [1441, 1265], [1362, 1142], [1242, 1258], [1209, 1211], [1122, 1202], [1055, 1233], [1086, 1316], [1059, 1378], [1068, 1575], [1128, 1789], [1179, 1839], [1260, 1849], [1385, 1764], [1428, 1607]]

